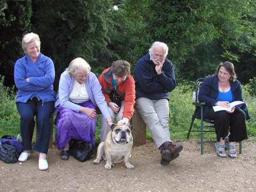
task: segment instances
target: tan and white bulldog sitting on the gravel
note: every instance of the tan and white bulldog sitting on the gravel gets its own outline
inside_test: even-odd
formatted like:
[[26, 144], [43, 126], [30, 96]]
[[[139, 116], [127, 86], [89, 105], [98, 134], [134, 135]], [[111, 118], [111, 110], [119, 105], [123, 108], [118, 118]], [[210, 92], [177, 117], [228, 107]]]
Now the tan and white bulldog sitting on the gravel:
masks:
[[105, 169], [111, 169], [115, 163], [125, 162], [126, 168], [134, 169], [134, 166], [129, 162], [132, 146], [131, 128], [124, 124], [113, 124], [106, 140], [99, 144], [97, 157], [93, 163], [99, 164], [101, 159], [104, 159], [106, 161]]

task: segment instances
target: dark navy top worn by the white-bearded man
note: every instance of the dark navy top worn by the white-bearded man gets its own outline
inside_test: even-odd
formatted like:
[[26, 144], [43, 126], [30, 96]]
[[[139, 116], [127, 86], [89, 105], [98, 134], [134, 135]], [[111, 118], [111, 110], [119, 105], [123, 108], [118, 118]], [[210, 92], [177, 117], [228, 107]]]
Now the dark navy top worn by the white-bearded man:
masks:
[[162, 73], [156, 74], [155, 64], [150, 60], [150, 54], [140, 58], [135, 66], [136, 98], [153, 100], [170, 99], [170, 92], [177, 86], [173, 64], [165, 59]]

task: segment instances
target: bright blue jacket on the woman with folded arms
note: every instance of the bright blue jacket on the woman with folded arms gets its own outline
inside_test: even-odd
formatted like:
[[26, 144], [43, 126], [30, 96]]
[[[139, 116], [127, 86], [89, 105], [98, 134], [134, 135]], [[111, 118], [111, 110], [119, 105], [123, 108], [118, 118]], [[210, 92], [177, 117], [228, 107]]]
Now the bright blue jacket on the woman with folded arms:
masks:
[[[29, 82], [26, 81], [29, 78]], [[26, 103], [36, 97], [43, 103], [55, 101], [53, 82], [55, 78], [53, 61], [39, 54], [36, 63], [25, 54], [14, 66], [14, 81], [18, 88], [16, 102]]]

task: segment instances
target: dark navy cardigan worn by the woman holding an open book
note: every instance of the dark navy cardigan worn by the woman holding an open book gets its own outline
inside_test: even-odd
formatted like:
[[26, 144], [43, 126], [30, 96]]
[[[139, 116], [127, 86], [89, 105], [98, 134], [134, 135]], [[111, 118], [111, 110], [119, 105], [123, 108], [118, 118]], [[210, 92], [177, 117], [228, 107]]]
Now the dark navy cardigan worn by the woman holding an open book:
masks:
[[[238, 80], [235, 82], [230, 81], [230, 89], [232, 91], [233, 101], [243, 101], [242, 98], [242, 87]], [[198, 99], [200, 102], [205, 103], [207, 106], [215, 106], [218, 97], [218, 77], [216, 75], [205, 79], [198, 93]], [[245, 104], [240, 106], [240, 108], [245, 112], [246, 119], [250, 119], [248, 115], [248, 110]], [[207, 114], [208, 108], [203, 109], [203, 117]]]

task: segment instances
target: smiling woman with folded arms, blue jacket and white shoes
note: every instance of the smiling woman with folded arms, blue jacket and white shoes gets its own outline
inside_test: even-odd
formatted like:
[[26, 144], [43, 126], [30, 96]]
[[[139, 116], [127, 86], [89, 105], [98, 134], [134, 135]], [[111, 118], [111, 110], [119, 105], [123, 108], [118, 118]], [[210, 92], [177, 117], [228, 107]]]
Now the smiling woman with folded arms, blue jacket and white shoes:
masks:
[[19, 161], [24, 162], [29, 158], [36, 116], [38, 139], [33, 150], [39, 152], [39, 169], [46, 170], [46, 154], [51, 136], [50, 116], [54, 111], [55, 101], [54, 64], [50, 58], [40, 53], [38, 34], [25, 34], [22, 47], [25, 55], [18, 59], [14, 66], [14, 81], [18, 88], [16, 106], [21, 115], [20, 129], [24, 146]]

